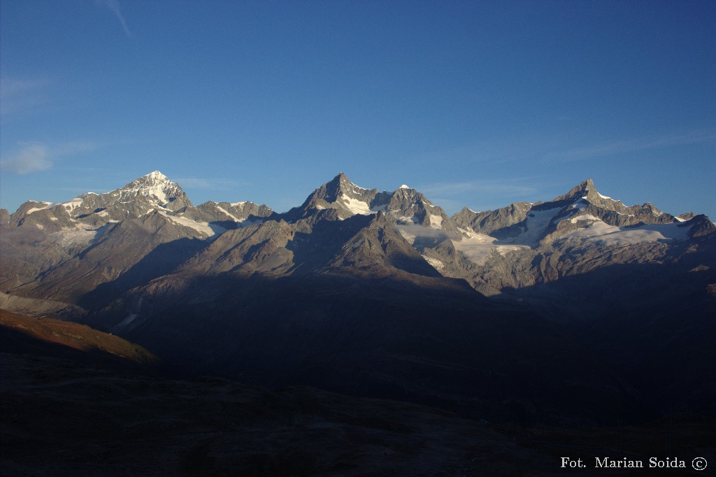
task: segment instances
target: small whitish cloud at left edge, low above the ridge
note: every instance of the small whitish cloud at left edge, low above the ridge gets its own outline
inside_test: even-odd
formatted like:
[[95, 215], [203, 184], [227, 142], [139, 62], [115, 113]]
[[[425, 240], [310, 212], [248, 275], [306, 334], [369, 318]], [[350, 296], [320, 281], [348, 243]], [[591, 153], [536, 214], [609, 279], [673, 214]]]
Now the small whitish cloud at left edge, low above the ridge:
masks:
[[97, 145], [85, 141], [64, 143], [54, 147], [41, 143], [21, 143], [9, 159], [0, 160], [0, 168], [16, 174], [42, 172], [52, 168], [54, 161], [66, 155], [95, 150]]

